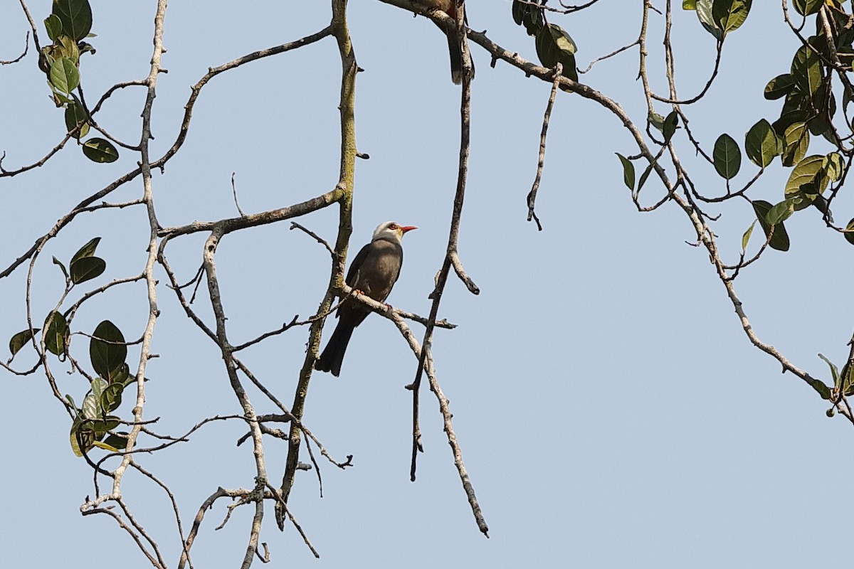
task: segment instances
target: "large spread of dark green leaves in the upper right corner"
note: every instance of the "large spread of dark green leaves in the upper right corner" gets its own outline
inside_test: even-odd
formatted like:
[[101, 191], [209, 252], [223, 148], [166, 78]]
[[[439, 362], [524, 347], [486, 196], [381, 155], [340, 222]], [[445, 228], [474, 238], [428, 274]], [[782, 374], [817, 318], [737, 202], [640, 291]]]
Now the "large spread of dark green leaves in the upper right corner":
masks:
[[[751, 6], [750, 0], [684, 0], [682, 3], [683, 9], [696, 10], [702, 26], [720, 43], [729, 32], [745, 23]], [[834, 127], [838, 106], [833, 82], [834, 72], [851, 71], [851, 61], [854, 61], [854, 26], [850, 22], [854, 20], [854, 15], [846, 13], [842, 4], [836, 0], [795, 0], [794, 8], [804, 18], [815, 18], [816, 34], [805, 39], [804, 44], [795, 50], [789, 72], [771, 79], [765, 87], [766, 99], [784, 100], [779, 117], [773, 123], [766, 119], [757, 121], [747, 131], [744, 142], [747, 158], [761, 170], [769, 167], [777, 156], [782, 166], [793, 168], [783, 189], [782, 200], [775, 204], [765, 200], [751, 200], [769, 247], [779, 251], [787, 251], [790, 247], [783, 222], [794, 212], [814, 206], [822, 212], [828, 224], [833, 223], [830, 212], [832, 196], [828, 198], [825, 193], [832, 183], [839, 183], [833, 195], [841, 187], [850, 165], [844, 156], [852, 154], [852, 149], [845, 146], [845, 140], [851, 136], [840, 136]], [[828, 44], [822, 20], [816, 17], [822, 8], [833, 32], [832, 44]], [[845, 84], [844, 87], [843, 110], [854, 99], [850, 85]], [[651, 113], [649, 121], [658, 131], [664, 132], [665, 142], [668, 142], [670, 138], [665, 131], [665, 119]], [[850, 130], [851, 121], [845, 119], [844, 125], [845, 129]], [[828, 154], [808, 155], [810, 139], [815, 136], [823, 137], [837, 150]], [[724, 133], [717, 138], [710, 160], [717, 174], [728, 184], [740, 171], [741, 154], [741, 148], [732, 136]], [[629, 184], [629, 181], [634, 180], [633, 166], [622, 156], [620, 158], [623, 180], [632, 188], [633, 184]], [[641, 177], [638, 191], [643, 181]], [[743, 194], [747, 187], [749, 184], [736, 194]], [[846, 229], [854, 230], [854, 218]], [[743, 247], [746, 247], [751, 233], [752, 228], [746, 231], [742, 239]], [[854, 232], [845, 232], [844, 235], [847, 241], [854, 244]]]

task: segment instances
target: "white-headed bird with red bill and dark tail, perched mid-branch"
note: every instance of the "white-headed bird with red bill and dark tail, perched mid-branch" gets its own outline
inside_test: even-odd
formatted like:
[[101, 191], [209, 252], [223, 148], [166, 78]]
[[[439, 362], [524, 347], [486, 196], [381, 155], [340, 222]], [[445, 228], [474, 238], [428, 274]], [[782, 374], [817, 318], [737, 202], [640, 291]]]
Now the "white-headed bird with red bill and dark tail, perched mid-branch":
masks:
[[[397, 224], [394, 221], [377, 225], [371, 242], [361, 248], [350, 264], [347, 284], [355, 291], [366, 294], [377, 302], [383, 302], [401, 274], [403, 264], [401, 240], [403, 235], [412, 229], [418, 228], [414, 225]], [[370, 313], [371, 309], [359, 301], [344, 299], [335, 315], [338, 318], [338, 324], [326, 343], [323, 353], [314, 363], [314, 369], [328, 371], [338, 377], [350, 336], [354, 328], [359, 326]]]

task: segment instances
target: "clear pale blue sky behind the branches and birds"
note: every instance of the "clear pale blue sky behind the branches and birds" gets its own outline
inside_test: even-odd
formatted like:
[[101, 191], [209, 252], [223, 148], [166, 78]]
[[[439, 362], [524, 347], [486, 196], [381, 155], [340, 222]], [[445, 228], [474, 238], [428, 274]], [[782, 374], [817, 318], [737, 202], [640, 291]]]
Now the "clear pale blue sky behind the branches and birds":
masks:
[[[154, 14], [153, 3], [92, 4], [98, 51], [83, 61], [87, 98], [148, 73]], [[509, 2], [468, 4], [474, 29], [535, 60], [533, 40], [512, 23]], [[637, 37], [640, 3], [620, 4], [626, 12], [610, 3], [589, 14], [553, 16], [576, 40], [580, 67]], [[779, 102], [764, 101], [762, 89], [787, 71], [796, 44], [783, 29], [780, 7], [764, 4], [757, 3], [746, 25], [728, 38], [709, 96], [687, 109], [695, 135], [709, 147], [722, 132], [741, 142], [757, 119], [779, 113]], [[44, 19], [46, 6], [30, 9], [36, 20]], [[325, 2], [304, 3], [298, 14], [272, 2], [203, 9], [172, 3], [163, 60], [169, 73], [158, 81], [153, 154], [172, 144], [189, 86], [208, 67], [316, 32], [329, 17]], [[365, 69], [357, 86], [357, 140], [370, 155], [357, 163], [351, 244], [360, 247], [388, 219], [418, 225], [405, 239], [405, 263], [389, 302], [427, 314], [457, 176], [459, 88], [448, 77], [445, 39], [430, 21], [373, 0], [353, 0], [349, 18]], [[659, 72], [662, 20], [653, 16], [650, 26], [650, 64]], [[17, 5], [0, 8], [0, 59], [20, 53], [26, 29]], [[680, 12], [675, 42], [680, 92], [693, 95], [711, 72], [714, 40], [692, 13]], [[537, 203], [545, 229], [527, 223], [525, 196], [550, 86], [502, 63], [493, 68], [483, 49], [471, 49], [477, 78], [459, 251], [482, 293], [472, 296], [451, 279], [440, 317], [459, 328], [436, 331], [434, 355], [490, 539], [472, 520], [435, 399], [426, 390], [425, 453], [418, 480], [409, 481], [411, 398], [403, 386], [414, 377], [415, 359], [390, 322], [371, 316], [354, 334], [341, 377], [317, 374], [311, 384], [306, 424], [334, 456], [352, 454], [355, 464], [345, 472], [321, 464], [322, 499], [313, 473], [301, 473], [291, 496], [321, 559], [313, 560], [292, 527], [279, 533], [267, 508], [261, 541], [275, 566], [802, 567], [826, 559], [828, 542], [847, 527], [845, 502], [839, 504], [836, 493], [845, 500], [845, 477], [854, 467], [851, 426], [826, 418], [826, 402], [797, 378], [781, 375], [749, 344], [705, 250], [686, 243], [695, 236], [676, 206], [636, 212], [614, 155], [635, 154], [632, 142], [594, 103], [559, 95]], [[636, 67], [636, 50], [629, 51], [581, 80], [642, 122]], [[41, 157], [61, 139], [64, 125], [32, 53], [0, 73], [6, 86], [0, 90], [0, 150], [12, 167]], [[155, 174], [161, 224], [235, 216], [232, 171], [244, 212], [331, 189], [338, 172], [339, 80], [331, 38], [214, 78], [197, 103], [184, 148]], [[660, 77], [656, 87], [664, 91]], [[137, 141], [143, 96], [139, 88], [121, 91], [99, 122], [114, 136]], [[722, 178], [694, 162], [680, 136], [680, 156], [693, 165], [704, 193], [722, 193]], [[136, 160], [125, 152], [112, 165], [95, 165], [69, 147], [42, 168], [3, 178], [2, 268]], [[745, 160], [736, 182], [745, 183], [752, 168]], [[787, 174], [775, 163], [756, 196], [779, 200]], [[137, 179], [110, 200], [132, 200], [141, 191]], [[652, 200], [660, 189], [645, 192]], [[845, 213], [850, 199], [842, 195], [837, 204], [839, 218], [851, 217]], [[714, 229], [734, 261], [752, 212], [741, 202], [717, 212], [722, 218]], [[757, 334], [828, 380], [816, 354], [839, 364], [847, 356], [854, 250], [823, 229], [816, 212], [803, 213], [787, 222], [792, 250], [769, 251], [736, 285]], [[300, 223], [331, 240], [337, 212], [330, 207]], [[329, 256], [288, 226], [228, 235], [219, 247], [220, 286], [235, 343], [296, 314], [311, 315], [322, 299]], [[143, 210], [80, 216], [39, 258], [35, 313], [50, 310], [61, 293], [51, 255], [70, 258], [95, 235], [102, 236], [98, 253], [108, 263], [104, 282], [142, 270]], [[170, 245], [180, 279], [189, 280], [201, 263], [203, 240], [193, 235]], [[145, 413], [160, 417], [159, 432], [177, 435], [205, 416], [239, 408], [216, 346], [184, 316], [163, 286], [165, 275], [159, 276], [162, 315], [153, 351], [160, 357], [149, 363]], [[0, 338], [26, 326], [24, 287], [20, 271], [0, 280]], [[196, 310], [212, 322], [203, 293]], [[91, 330], [110, 318], [135, 338], [146, 311], [143, 287], [130, 285], [102, 295], [75, 322]], [[297, 328], [244, 354], [288, 403], [306, 334]], [[74, 342], [85, 353], [85, 339]], [[32, 364], [32, 354], [22, 351], [15, 363]], [[67, 364], [54, 366], [61, 390], [79, 401], [85, 380], [64, 374]], [[91, 469], [68, 448], [67, 415], [50, 397], [44, 376], [0, 372], [0, 390], [7, 402], [0, 419], [7, 433], [0, 437], [7, 457], [0, 469], [7, 488], [0, 531], [15, 544], [5, 549], [4, 564], [83, 566], [91, 555], [121, 555], [127, 567], [149, 566], [113, 520], [80, 517], [79, 505], [93, 496]], [[259, 412], [272, 412], [260, 393], [250, 397]], [[130, 415], [129, 404], [120, 410]], [[251, 449], [234, 444], [243, 432], [238, 421], [214, 423], [189, 444], [139, 458], [173, 488], [185, 526], [218, 485], [253, 484]], [[266, 443], [274, 480], [285, 451], [283, 444]], [[128, 476], [124, 493], [174, 566], [179, 547], [165, 496], [136, 475]], [[238, 508], [224, 529], [213, 531], [225, 504], [208, 512], [193, 549], [196, 567], [237, 566], [250, 515]]]

